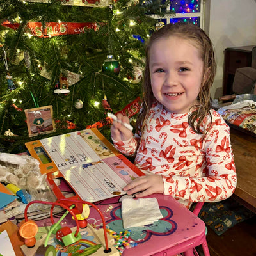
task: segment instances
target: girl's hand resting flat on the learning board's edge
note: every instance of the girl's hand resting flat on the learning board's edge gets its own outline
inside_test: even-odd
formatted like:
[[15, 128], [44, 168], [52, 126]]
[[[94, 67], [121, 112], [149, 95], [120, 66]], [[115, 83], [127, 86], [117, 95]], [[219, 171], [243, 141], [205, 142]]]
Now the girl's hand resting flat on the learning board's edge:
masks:
[[124, 188], [128, 195], [136, 194], [136, 197], [152, 195], [154, 193], [164, 193], [164, 182], [162, 175], [145, 175], [132, 180]]

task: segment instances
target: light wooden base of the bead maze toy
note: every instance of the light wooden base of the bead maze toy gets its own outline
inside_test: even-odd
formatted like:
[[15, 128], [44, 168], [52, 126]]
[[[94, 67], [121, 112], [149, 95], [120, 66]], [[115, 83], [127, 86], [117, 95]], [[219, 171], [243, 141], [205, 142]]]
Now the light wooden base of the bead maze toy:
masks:
[[[49, 229], [50, 229], [50, 227], [40, 227], [39, 228], [38, 234], [36, 235], [36, 244], [33, 248], [28, 248], [26, 245], [22, 245], [20, 247], [22, 252], [24, 253], [24, 255], [36, 256], [36, 250], [38, 249], [38, 247], [40, 245], [44, 244], [45, 238], [47, 236], [47, 232], [49, 232]], [[76, 231], [76, 227], [71, 228], [71, 230]], [[81, 240], [81, 244], [83, 244], [84, 241], [86, 241], [85, 243], [90, 244], [90, 241], [88, 241], [86, 239], [87, 237], [90, 237], [91, 239], [93, 239], [93, 242], [96, 244], [102, 244], [102, 247], [99, 248], [99, 250], [97, 250], [97, 252], [92, 254], [93, 256], [103, 256], [103, 255], [119, 256], [118, 250], [113, 246], [113, 244], [115, 243], [115, 239], [113, 237], [109, 236], [109, 234], [107, 234], [107, 236], [108, 236], [108, 243], [109, 243], [109, 248], [111, 248], [111, 252], [104, 253], [105, 239], [104, 239], [104, 232], [103, 232], [102, 228], [95, 229], [91, 225], [88, 225], [86, 228], [80, 229], [79, 232], [81, 232], [82, 236], [84, 233], [86, 233], [86, 237], [83, 237], [84, 239]], [[55, 248], [57, 247], [56, 250], [58, 250], [58, 246], [56, 246], [56, 244], [54, 242], [54, 237], [55, 237], [55, 235], [51, 234], [48, 244], [53, 245]]]

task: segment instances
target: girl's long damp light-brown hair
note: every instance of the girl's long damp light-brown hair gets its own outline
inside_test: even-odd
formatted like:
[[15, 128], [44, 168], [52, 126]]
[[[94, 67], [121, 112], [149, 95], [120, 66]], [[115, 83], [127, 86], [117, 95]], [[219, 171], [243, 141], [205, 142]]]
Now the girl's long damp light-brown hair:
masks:
[[[145, 126], [145, 120], [149, 113], [149, 109], [152, 107], [152, 103], [156, 100], [154, 98], [151, 81], [150, 81], [150, 70], [149, 70], [149, 59], [150, 59], [150, 48], [156, 40], [162, 38], [168, 38], [170, 36], [179, 36], [180, 38], [187, 39], [193, 44], [200, 53], [200, 58], [204, 61], [204, 70], [201, 82], [200, 92], [198, 94], [199, 104], [193, 106], [193, 111], [189, 113], [188, 122], [192, 129], [199, 134], [205, 134], [207, 127], [204, 127], [204, 121], [207, 115], [211, 118], [211, 96], [210, 89], [214, 81], [216, 74], [216, 62], [214, 58], [214, 50], [212, 47], [209, 36], [206, 35], [204, 30], [193, 24], [166, 24], [163, 28], [155, 31], [147, 42], [146, 45], [146, 65], [143, 77], [143, 110], [138, 116], [136, 124], [136, 131], [143, 131]], [[195, 109], [195, 111], [194, 111]], [[204, 129], [202, 130], [202, 125]], [[201, 127], [201, 129], [200, 129]]]

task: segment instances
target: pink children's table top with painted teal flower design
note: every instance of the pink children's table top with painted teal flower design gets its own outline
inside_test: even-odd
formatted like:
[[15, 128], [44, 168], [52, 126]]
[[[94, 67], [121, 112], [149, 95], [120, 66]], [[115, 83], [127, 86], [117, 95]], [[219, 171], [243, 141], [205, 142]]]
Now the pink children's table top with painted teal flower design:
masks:
[[[200, 237], [204, 236], [204, 221], [180, 205], [172, 196], [156, 194], [148, 197], [157, 198], [164, 218], [152, 225], [129, 228], [131, 239], [138, 245], [125, 249], [122, 255], [149, 256], [156, 253], [157, 255], [169, 255], [170, 250], [166, 252], [168, 248], [180, 246], [183, 248], [183, 245], [188, 246], [188, 241], [199, 241]], [[96, 203], [106, 218], [107, 227], [117, 233], [124, 231], [122, 218], [120, 218], [120, 198], [119, 196]], [[99, 214], [94, 209], [90, 211], [88, 222], [98, 228], [102, 225]], [[179, 252], [180, 249], [177, 250]]]

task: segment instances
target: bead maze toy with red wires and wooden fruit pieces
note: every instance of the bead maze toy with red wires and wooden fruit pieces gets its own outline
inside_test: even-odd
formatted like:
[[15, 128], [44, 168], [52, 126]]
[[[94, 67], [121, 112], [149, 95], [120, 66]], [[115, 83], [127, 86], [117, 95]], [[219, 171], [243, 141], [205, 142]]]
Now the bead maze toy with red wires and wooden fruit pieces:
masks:
[[[35, 221], [28, 220], [28, 208], [31, 204], [48, 204], [51, 206], [51, 227], [49, 232], [40, 236], [40, 239], [36, 240], [36, 234], [38, 233], [38, 225]], [[92, 228], [86, 218], [90, 214], [90, 207], [93, 207], [99, 214], [102, 220], [102, 228], [95, 230]], [[62, 207], [65, 209], [65, 213], [61, 218], [54, 223], [53, 209], [55, 206]], [[70, 214], [72, 219], [76, 223], [76, 227], [61, 227], [61, 221]], [[93, 237], [93, 242], [91, 246], [86, 246], [82, 248], [79, 244], [82, 239], [81, 230], [86, 230], [90, 237]], [[70, 200], [70, 199], [60, 199], [56, 202], [45, 202], [40, 200], [34, 200], [29, 202], [24, 211], [24, 221], [22, 221], [19, 234], [24, 238], [24, 244], [21, 246], [24, 255], [26, 256], [57, 256], [62, 255], [58, 252], [70, 252], [69, 255], [111, 255], [118, 256], [119, 252], [113, 246], [113, 237], [109, 236], [106, 229], [106, 222], [102, 212], [97, 206], [90, 202], [83, 200]], [[56, 246], [49, 244], [50, 240], [54, 240]], [[52, 243], [52, 241], [51, 241]], [[110, 245], [109, 245], [110, 244]], [[60, 249], [61, 248], [61, 249]], [[58, 250], [60, 249], [60, 250]]]

